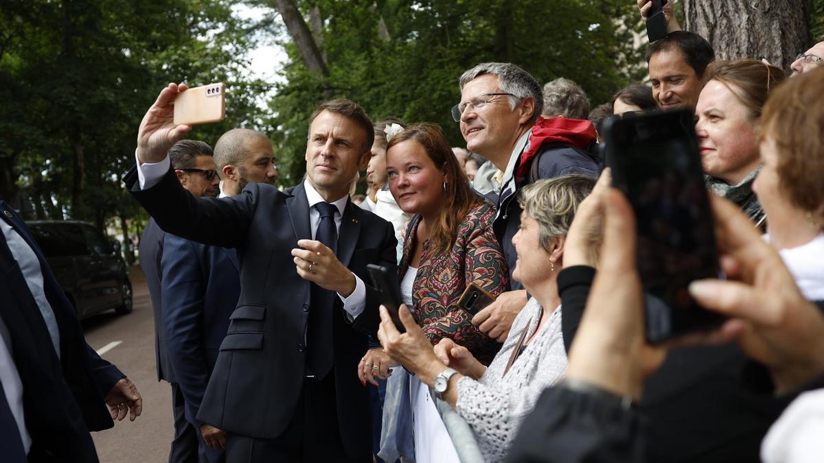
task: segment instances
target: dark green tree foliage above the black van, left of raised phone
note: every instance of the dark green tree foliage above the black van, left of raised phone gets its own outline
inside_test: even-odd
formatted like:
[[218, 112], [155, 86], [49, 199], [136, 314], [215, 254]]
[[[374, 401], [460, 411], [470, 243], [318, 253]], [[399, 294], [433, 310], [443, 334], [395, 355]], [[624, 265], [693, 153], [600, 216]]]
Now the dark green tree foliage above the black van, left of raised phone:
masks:
[[253, 45], [232, 0], [5, 0], [0, 3], [0, 198], [28, 217], [102, 226], [133, 217], [122, 174], [138, 124], [167, 82], [226, 82], [227, 119], [193, 133], [213, 144], [255, 124], [267, 89], [244, 77]]

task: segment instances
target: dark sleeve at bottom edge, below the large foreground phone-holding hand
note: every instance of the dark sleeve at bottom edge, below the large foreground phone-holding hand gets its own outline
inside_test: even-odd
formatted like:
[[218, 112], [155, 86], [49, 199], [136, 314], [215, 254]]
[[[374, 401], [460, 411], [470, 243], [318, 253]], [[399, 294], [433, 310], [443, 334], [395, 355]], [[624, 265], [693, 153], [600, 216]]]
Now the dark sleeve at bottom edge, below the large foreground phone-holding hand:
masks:
[[522, 423], [507, 461], [639, 463], [644, 461], [644, 433], [634, 409], [550, 387]]

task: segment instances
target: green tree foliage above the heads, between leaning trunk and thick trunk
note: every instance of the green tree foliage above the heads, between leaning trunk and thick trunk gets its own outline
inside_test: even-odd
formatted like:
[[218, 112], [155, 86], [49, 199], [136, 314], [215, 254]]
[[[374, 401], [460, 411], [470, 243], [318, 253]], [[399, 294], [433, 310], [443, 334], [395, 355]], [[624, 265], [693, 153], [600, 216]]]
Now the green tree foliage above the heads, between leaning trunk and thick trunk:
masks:
[[[262, 2], [274, 7], [275, 2]], [[316, 36], [330, 76], [307, 72], [297, 47], [270, 101], [272, 133], [289, 180], [303, 175], [307, 118], [321, 101], [358, 101], [373, 119], [438, 123], [453, 146], [464, 144], [450, 108], [460, 100], [458, 77], [485, 61], [517, 63], [539, 82], [568, 77], [593, 104], [639, 80], [641, 52], [630, 30], [632, 2], [596, 0], [435, 0], [296, 2], [309, 18], [320, 10]], [[384, 29], [385, 28], [385, 29]]]

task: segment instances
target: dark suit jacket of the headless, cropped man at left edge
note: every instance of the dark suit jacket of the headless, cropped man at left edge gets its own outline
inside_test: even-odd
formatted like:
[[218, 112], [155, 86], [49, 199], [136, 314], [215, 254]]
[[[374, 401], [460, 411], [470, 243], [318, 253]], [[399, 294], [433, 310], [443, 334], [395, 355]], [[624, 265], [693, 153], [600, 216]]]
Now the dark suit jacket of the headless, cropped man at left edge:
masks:
[[[89, 430], [111, 428], [103, 397], [124, 376], [86, 344], [74, 308], [26, 224], [0, 201], [2, 217], [35, 251], [60, 333], [60, 358], [5, 237], [0, 233], [0, 316], [12, 336], [32, 446], [71, 461], [97, 461]], [[6, 212], [12, 217], [7, 217]]]

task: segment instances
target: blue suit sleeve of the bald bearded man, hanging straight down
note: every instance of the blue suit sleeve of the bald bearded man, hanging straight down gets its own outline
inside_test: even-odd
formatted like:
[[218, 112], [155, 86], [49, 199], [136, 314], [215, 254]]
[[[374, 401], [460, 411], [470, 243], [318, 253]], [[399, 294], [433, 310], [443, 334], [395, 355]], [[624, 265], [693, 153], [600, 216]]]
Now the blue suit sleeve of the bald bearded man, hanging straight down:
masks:
[[196, 422], [209, 378], [203, 350], [203, 310], [206, 281], [203, 246], [166, 234], [161, 268], [162, 307], [166, 352], [183, 391], [186, 418]]

